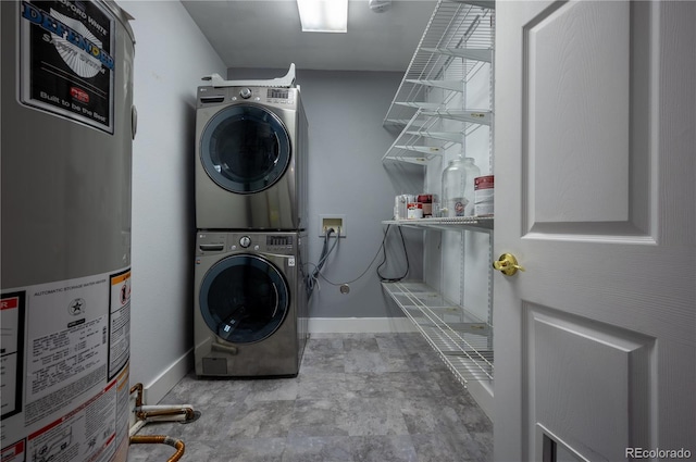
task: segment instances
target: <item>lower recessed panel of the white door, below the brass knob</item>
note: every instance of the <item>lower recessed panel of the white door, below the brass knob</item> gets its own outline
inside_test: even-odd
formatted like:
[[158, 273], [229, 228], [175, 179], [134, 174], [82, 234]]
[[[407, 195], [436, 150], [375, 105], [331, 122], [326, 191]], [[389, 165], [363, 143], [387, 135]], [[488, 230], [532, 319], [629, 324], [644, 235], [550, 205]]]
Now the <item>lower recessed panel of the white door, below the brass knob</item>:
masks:
[[523, 312], [527, 460], [542, 460], [539, 425], [587, 460], [650, 447], [656, 339], [535, 303], [523, 302]]

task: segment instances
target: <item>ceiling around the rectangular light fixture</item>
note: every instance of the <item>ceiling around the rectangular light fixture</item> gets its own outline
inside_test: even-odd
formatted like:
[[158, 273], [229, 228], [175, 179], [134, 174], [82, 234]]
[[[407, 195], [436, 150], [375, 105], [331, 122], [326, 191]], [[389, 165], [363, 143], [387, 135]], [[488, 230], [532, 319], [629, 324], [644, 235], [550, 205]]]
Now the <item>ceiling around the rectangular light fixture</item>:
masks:
[[183, 0], [227, 67], [406, 71], [435, 0], [348, 2], [348, 33], [303, 33], [295, 0]]

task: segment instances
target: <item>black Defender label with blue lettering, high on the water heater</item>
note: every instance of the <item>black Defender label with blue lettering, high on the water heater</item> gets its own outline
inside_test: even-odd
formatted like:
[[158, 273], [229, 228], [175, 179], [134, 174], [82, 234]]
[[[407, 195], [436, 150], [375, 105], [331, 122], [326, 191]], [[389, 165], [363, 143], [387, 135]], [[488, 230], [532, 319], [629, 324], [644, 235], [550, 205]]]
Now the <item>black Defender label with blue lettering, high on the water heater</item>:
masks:
[[20, 99], [113, 134], [114, 18], [98, 3], [22, 1]]

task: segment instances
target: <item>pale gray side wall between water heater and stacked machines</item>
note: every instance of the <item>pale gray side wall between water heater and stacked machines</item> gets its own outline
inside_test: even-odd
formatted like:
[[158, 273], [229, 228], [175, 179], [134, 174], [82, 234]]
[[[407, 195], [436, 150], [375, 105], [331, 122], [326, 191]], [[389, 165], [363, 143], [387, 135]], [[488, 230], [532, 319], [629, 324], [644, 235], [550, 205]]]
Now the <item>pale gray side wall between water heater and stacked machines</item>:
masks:
[[130, 380], [154, 404], [192, 345], [194, 123], [200, 77], [225, 66], [179, 2], [121, 2], [136, 37]]

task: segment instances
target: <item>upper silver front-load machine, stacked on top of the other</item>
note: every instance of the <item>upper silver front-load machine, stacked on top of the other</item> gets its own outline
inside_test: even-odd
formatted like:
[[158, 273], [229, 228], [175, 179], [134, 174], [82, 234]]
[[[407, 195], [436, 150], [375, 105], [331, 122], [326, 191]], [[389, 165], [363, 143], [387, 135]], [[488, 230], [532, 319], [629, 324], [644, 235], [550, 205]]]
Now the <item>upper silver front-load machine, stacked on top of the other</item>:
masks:
[[198, 87], [196, 227], [307, 228], [299, 88]]

